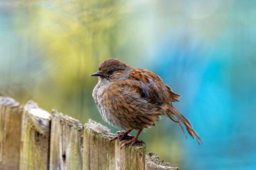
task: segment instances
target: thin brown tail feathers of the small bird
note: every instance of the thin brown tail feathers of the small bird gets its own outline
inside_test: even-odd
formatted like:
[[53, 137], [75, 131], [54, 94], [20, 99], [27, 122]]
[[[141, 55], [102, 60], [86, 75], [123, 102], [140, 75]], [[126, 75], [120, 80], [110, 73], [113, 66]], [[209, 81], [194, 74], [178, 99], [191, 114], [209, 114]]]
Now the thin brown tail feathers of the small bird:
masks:
[[[173, 120], [174, 122], [179, 124], [179, 126], [181, 127], [181, 130], [183, 130], [184, 134], [185, 134], [185, 131], [184, 131], [181, 123], [184, 124], [185, 128], [187, 129], [187, 132], [189, 133], [189, 135], [192, 138], [196, 138], [196, 140], [199, 144], [203, 144], [203, 141], [201, 140], [201, 138], [199, 137], [197, 132], [195, 132], [195, 130], [193, 130], [193, 127], [192, 127], [191, 123], [189, 122], [189, 120], [187, 120], [182, 114], [180, 114], [172, 105], [168, 105], [168, 110], [169, 110], [169, 112], [166, 113], [166, 116], [168, 116], [168, 118], [170, 118], [171, 120]], [[186, 134], [185, 134], [185, 137], [187, 138]]]

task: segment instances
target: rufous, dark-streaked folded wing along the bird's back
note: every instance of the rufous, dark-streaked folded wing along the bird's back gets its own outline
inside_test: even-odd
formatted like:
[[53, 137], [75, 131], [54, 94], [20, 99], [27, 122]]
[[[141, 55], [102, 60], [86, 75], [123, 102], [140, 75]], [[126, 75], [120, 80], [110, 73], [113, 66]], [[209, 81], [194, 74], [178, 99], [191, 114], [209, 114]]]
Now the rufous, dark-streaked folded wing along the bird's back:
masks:
[[153, 103], [179, 101], [181, 95], [174, 93], [168, 85], [164, 84], [162, 79], [145, 69], [132, 69], [128, 77], [129, 80], [138, 81], [144, 97], [147, 97]]

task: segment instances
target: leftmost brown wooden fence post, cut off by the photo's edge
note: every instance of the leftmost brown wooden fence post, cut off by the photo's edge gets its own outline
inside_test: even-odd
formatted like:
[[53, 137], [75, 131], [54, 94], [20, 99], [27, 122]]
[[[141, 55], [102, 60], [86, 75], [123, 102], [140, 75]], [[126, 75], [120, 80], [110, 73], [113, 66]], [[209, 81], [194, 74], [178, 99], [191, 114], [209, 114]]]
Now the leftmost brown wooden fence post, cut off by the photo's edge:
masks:
[[19, 169], [22, 106], [0, 96], [0, 169]]

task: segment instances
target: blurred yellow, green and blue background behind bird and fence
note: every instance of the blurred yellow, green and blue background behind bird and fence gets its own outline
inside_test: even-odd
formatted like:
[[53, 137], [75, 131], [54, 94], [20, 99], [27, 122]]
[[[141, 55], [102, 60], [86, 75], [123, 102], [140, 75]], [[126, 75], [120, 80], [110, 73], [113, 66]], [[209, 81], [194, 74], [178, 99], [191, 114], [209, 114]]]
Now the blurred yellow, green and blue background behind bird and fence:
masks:
[[256, 169], [255, 17], [252, 0], [1, 0], [0, 93], [110, 127], [89, 75], [119, 58], [181, 94], [204, 142], [162, 118], [141, 135], [148, 152], [181, 169]]

